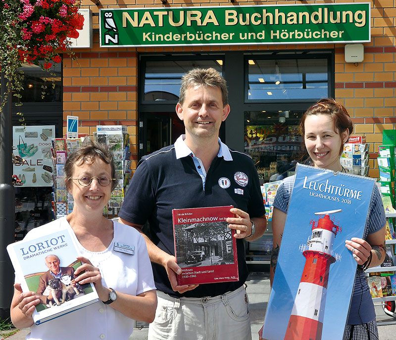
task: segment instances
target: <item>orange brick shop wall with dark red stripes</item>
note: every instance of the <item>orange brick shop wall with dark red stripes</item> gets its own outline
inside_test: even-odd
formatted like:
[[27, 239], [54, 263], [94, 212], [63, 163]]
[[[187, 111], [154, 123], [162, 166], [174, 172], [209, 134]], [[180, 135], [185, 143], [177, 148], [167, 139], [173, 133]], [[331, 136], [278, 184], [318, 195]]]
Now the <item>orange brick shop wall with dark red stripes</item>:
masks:
[[[324, 1], [307, 1], [309, 3]], [[357, 2], [357, 1], [356, 1]], [[356, 134], [367, 137], [370, 148], [370, 176], [378, 177], [377, 146], [382, 141], [382, 130], [395, 128], [396, 116], [396, 0], [371, 1], [372, 41], [365, 43], [364, 61], [358, 65], [346, 63], [344, 44], [260, 45], [260, 46], [204, 46], [204, 47], [150, 47], [100, 48], [99, 8], [166, 7], [197, 5], [285, 4], [286, 1], [227, 0], [171, 0], [162, 5], [160, 0], [100, 0], [94, 5], [83, 0], [83, 8], [94, 13], [94, 44], [91, 49], [76, 50], [78, 61], [65, 56], [63, 68], [63, 115], [79, 116], [79, 130], [92, 134], [96, 125], [122, 124], [128, 126], [137, 159], [137, 85], [138, 52], [274, 50], [334, 48], [336, 99], [343, 103], [354, 123]], [[301, 3], [287, 1], [287, 3]], [[135, 168], [136, 162], [133, 165]]]

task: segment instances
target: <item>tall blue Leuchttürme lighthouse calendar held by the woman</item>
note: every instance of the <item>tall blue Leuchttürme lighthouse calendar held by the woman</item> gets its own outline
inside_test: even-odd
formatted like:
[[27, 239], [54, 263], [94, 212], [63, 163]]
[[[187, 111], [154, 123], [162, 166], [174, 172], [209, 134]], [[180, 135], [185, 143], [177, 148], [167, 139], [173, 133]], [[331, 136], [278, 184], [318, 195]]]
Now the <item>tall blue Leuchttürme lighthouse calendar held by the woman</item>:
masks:
[[375, 179], [298, 164], [263, 339], [341, 340]]

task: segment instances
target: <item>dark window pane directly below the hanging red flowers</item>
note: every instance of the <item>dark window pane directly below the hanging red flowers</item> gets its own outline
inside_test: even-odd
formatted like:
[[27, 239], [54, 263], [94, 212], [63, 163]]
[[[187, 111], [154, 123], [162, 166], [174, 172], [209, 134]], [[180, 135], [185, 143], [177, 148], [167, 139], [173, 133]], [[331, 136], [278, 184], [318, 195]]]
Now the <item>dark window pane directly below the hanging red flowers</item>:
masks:
[[[22, 67], [18, 69], [18, 72], [19, 71], [22, 71], [24, 74], [23, 90], [20, 92], [20, 102], [61, 102], [61, 64], [53, 64], [48, 71], [43, 71], [42, 68], [37, 65], [22, 64]], [[55, 86], [52, 87], [52, 84]], [[42, 96], [42, 85], [47, 86], [44, 97]], [[16, 102], [15, 97], [13, 97], [13, 102]]]

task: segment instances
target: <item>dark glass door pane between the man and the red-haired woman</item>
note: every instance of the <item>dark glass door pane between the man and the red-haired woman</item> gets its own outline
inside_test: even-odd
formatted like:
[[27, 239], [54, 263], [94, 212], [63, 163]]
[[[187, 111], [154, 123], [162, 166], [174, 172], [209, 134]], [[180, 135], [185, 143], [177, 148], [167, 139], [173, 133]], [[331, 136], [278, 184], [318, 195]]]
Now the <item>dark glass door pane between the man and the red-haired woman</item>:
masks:
[[257, 168], [260, 183], [276, 181], [294, 173], [306, 157], [298, 122], [302, 111], [247, 111], [245, 152]]

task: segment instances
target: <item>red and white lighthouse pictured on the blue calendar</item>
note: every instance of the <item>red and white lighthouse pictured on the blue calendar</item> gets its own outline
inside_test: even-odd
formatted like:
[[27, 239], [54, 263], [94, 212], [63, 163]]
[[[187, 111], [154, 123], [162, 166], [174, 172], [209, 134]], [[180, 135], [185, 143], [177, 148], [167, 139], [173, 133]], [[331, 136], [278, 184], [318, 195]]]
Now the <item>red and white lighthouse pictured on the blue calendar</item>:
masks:
[[285, 340], [322, 338], [330, 264], [341, 259], [340, 255], [333, 253], [334, 239], [341, 232], [341, 227], [331, 214], [338, 212], [341, 209], [315, 213], [319, 220], [311, 220], [312, 234], [307, 243], [300, 246], [306, 260]]

